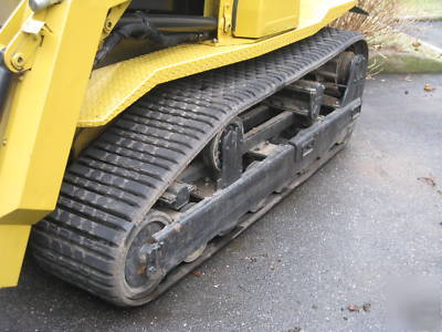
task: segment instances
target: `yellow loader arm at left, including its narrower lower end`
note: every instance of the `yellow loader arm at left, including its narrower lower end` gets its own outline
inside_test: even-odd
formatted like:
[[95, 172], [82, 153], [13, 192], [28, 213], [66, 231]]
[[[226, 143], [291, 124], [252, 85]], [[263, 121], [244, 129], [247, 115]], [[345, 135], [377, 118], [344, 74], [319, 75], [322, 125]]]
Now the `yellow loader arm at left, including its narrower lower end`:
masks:
[[3, 79], [0, 123], [2, 287], [17, 283], [31, 225], [55, 207], [106, 17], [124, 3], [63, 1], [33, 13], [22, 1], [0, 32], [2, 70], [14, 73]]

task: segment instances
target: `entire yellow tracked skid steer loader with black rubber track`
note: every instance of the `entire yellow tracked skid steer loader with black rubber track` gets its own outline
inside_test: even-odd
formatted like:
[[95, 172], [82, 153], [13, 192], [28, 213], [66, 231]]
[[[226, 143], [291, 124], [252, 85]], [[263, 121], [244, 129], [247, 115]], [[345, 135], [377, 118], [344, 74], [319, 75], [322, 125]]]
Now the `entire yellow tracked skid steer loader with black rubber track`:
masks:
[[327, 27], [356, 2], [15, 3], [0, 30], [0, 287], [29, 240], [50, 273], [141, 305], [238, 237], [350, 138], [367, 44]]

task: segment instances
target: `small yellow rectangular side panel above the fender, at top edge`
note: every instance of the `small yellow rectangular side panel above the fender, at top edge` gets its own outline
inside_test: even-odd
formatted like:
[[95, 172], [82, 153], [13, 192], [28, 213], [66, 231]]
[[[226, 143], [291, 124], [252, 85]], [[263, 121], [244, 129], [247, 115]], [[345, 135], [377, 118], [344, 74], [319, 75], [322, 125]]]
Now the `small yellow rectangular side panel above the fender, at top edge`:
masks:
[[299, 22], [301, 0], [236, 0], [233, 34], [263, 38], [294, 29]]

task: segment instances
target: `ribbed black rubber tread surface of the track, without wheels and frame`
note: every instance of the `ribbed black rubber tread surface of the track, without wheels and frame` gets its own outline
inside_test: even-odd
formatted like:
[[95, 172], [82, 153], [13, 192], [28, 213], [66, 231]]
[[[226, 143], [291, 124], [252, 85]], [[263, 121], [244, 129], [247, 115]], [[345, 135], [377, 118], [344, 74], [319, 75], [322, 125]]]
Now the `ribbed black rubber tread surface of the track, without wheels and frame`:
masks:
[[40, 264], [108, 301], [134, 227], [239, 113], [359, 41], [325, 29], [264, 56], [164, 84], [130, 106], [72, 164], [57, 207], [33, 228]]

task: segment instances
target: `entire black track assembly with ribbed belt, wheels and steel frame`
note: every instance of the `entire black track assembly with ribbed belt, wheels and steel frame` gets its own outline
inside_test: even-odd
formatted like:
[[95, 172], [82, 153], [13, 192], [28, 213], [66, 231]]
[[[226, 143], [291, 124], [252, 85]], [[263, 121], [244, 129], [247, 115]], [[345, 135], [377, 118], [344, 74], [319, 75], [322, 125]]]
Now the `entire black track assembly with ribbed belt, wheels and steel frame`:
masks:
[[325, 29], [158, 86], [71, 164], [36, 260], [115, 304], [154, 300], [343, 149], [366, 68], [359, 34]]

